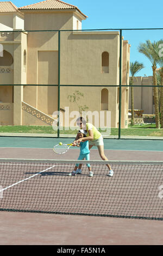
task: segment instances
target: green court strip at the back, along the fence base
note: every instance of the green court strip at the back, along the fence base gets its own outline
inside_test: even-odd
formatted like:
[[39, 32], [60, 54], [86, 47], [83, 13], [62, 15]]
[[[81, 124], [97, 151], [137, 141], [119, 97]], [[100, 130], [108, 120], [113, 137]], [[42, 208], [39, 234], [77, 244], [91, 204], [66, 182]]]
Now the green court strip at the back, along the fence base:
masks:
[[[68, 144], [73, 138], [0, 137], [0, 148], [53, 148], [59, 142]], [[75, 149], [76, 147], [72, 147]], [[97, 149], [96, 147], [93, 147]], [[104, 149], [163, 151], [163, 141], [143, 139], [104, 139]]]

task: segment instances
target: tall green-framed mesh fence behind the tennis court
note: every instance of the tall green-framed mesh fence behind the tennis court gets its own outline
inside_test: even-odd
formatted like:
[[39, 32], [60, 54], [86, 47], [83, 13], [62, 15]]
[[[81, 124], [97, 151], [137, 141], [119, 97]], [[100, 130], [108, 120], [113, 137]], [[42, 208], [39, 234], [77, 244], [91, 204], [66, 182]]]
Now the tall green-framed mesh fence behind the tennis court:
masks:
[[[0, 136], [76, 137], [82, 115], [104, 138], [162, 139], [161, 33], [0, 32]], [[140, 51], [149, 40], [155, 73]], [[143, 68], [131, 80], [136, 61]]]

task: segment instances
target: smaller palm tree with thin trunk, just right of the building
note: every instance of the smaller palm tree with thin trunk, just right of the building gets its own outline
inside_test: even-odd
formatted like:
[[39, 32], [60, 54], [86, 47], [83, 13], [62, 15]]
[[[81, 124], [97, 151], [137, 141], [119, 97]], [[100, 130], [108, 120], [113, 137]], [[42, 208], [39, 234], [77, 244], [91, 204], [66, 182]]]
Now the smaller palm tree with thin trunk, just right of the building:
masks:
[[134, 77], [141, 69], [143, 69], [144, 66], [142, 63], [139, 63], [137, 61], [130, 62], [130, 85], [131, 85], [131, 125], [135, 124], [134, 120]]

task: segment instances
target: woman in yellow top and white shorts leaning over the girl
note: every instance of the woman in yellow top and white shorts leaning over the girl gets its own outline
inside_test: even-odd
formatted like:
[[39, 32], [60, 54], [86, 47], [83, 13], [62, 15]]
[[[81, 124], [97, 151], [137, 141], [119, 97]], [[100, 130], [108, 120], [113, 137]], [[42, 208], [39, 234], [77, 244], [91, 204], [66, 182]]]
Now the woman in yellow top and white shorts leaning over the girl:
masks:
[[[83, 129], [86, 131], [86, 137], [78, 138], [77, 136], [76, 141], [74, 141], [74, 144], [78, 142], [89, 141], [89, 149], [91, 149], [93, 146], [96, 146], [98, 148], [98, 152], [102, 160], [108, 161], [107, 157], [104, 154], [103, 137], [101, 133], [96, 129], [96, 127], [93, 126], [92, 124], [86, 123], [83, 117], [79, 117], [77, 119], [77, 125], [80, 127], [80, 129]], [[114, 172], [111, 169], [111, 166], [109, 164], [106, 164], [106, 165], [109, 168], [109, 176], [112, 176]]]

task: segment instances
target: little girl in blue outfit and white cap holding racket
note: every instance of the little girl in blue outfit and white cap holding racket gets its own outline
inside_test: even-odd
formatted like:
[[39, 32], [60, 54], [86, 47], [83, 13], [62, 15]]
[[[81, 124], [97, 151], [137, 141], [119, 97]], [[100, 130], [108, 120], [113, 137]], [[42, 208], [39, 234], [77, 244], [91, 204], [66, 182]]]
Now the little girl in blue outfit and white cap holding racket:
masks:
[[[79, 130], [78, 132], [78, 137], [79, 138], [83, 138], [86, 136], [86, 131], [84, 130]], [[80, 155], [78, 157], [78, 160], [90, 160], [90, 150], [89, 150], [89, 141], [84, 141], [84, 142], [80, 142], [80, 144], [77, 145], [77, 147], [80, 147]], [[92, 177], [93, 173], [91, 172], [91, 166], [89, 163], [86, 164], [87, 168], [90, 171], [89, 176]], [[71, 173], [71, 175], [76, 175], [76, 174], [82, 174], [82, 170], [79, 167], [79, 164], [77, 163], [73, 172]]]

